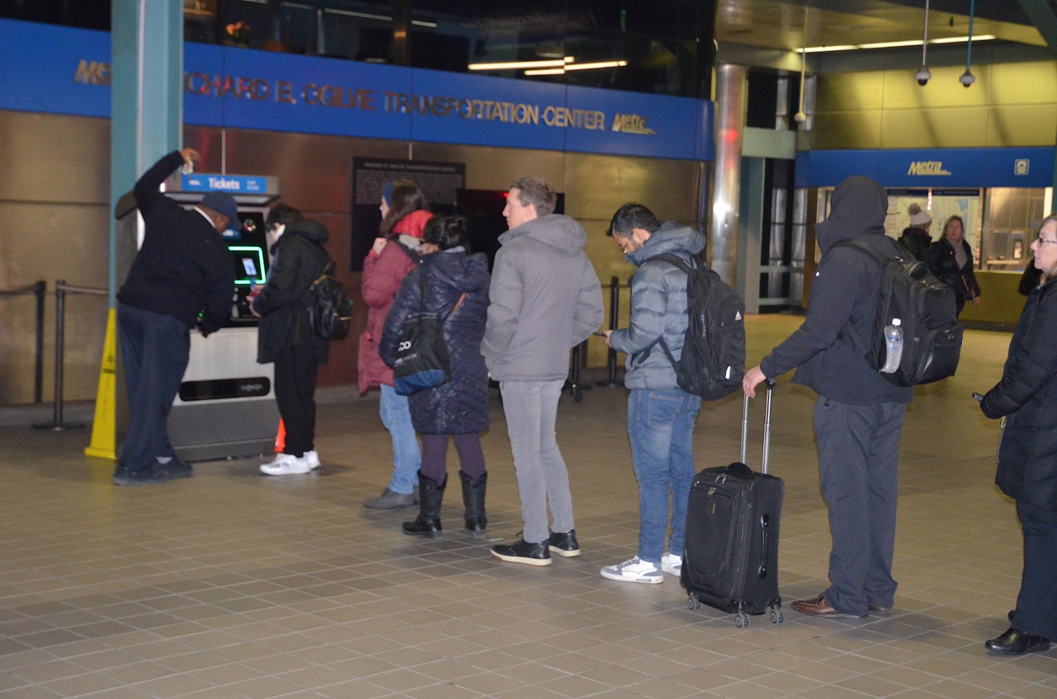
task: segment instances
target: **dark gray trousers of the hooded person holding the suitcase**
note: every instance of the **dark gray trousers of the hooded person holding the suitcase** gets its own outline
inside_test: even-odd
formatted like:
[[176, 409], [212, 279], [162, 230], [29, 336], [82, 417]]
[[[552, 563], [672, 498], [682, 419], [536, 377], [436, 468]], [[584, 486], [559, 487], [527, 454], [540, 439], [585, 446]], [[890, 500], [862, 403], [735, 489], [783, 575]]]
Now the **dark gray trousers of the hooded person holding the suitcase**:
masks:
[[900, 436], [906, 403], [848, 405], [819, 396], [815, 437], [822, 496], [830, 509], [830, 589], [845, 613], [892, 606]]

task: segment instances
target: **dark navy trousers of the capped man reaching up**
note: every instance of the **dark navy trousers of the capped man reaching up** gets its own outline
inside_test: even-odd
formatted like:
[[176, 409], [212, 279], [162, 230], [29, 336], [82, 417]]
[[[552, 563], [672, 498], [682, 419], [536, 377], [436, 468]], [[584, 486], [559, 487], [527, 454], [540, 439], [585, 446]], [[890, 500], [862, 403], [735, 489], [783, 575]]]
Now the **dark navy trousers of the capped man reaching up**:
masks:
[[173, 316], [117, 305], [129, 424], [120, 464], [128, 471], [149, 469], [159, 456], [173, 457], [166, 421], [190, 356], [190, 335]]

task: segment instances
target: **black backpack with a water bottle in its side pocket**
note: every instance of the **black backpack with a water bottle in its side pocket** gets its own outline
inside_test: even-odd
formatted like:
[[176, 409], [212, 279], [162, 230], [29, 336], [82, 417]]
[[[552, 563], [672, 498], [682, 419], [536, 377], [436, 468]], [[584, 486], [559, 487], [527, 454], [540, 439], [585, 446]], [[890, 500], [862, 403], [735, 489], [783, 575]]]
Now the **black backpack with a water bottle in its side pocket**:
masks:
[[898, 318], [903, 354], [892, 373], [882, 373], [898, 386], [931, 383], [953, 376], [962, 354], [964, 329], [958, 322], [954, 289], [938, 280], [906, 248], [887, 237], [846, 238], [834, 245], [863, 250], [882, 265], [877, 318], [868, 342], [852, 339], [878, 372], [887, 351], [885, 327]]

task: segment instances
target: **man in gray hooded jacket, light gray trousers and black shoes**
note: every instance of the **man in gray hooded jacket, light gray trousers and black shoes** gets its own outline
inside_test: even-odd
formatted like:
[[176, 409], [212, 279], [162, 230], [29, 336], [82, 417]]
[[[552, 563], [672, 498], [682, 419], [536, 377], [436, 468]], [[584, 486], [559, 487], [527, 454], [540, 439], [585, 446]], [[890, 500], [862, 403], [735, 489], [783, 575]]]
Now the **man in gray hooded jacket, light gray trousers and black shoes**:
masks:
[[[522, 539], [495, 546], [512, 563], [551, 564], [551, 551], [579, 555], [569, 474], [555, 436], [569, 351], [601, 325], [601, 285], [583, 252], [587, 233], [553, 213], [557, 193], [538, 177], [511, 185], [488, 289], [481, 354], [503, 395], [521, 496]], [[550, 505], [553, 531], [548, 526]]]

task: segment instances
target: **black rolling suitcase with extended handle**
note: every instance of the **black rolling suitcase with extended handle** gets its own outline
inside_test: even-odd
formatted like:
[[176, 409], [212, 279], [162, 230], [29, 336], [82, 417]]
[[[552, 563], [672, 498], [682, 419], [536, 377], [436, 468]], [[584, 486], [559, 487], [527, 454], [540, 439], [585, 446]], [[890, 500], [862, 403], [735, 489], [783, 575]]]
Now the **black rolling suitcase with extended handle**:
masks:
[[763, 420], [763, 466], [745, 466], [748, 396], [741, 415], [741, 460], [705, 469], [693, 478], [686, 508], [686, 540], [680, 582], [687, 606], [705, 603], [737, 613], [747, 626], [749, 615], [769, 612], [771, 622], [785, 621], [778, 594], [778, 532], [785, 486], [767, 475], [771, 446], [771, 395], [767, 381]]

